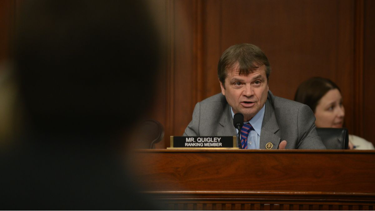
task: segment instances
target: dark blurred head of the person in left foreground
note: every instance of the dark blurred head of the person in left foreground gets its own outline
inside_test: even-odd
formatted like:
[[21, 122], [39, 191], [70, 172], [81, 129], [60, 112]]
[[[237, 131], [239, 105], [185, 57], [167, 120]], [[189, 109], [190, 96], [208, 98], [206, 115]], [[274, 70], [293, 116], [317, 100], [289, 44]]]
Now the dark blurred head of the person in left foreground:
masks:
[[21, 6], [15, 63], [28, 130], [108, 136], [150, 109], [159, 39], [144, 2]]

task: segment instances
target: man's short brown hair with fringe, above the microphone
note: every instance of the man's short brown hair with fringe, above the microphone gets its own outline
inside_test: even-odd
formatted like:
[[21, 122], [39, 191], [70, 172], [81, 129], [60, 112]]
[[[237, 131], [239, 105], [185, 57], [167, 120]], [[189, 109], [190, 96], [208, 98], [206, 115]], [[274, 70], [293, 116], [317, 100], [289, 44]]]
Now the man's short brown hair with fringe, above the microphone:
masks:
[[[267, 82], [271, 74], [271, 66], [266, 54], [256, 45], [237, 44], [232, 45], [224, 51], [217, 65], [217, 75], [224, 86], [227, 76], [227, 69], [232, 68], [238, 62], [238, 71], [240, 75], [248, 75], [250, 72], [266, 65]], [[224, 86], [225, 87], [225, 86]]]

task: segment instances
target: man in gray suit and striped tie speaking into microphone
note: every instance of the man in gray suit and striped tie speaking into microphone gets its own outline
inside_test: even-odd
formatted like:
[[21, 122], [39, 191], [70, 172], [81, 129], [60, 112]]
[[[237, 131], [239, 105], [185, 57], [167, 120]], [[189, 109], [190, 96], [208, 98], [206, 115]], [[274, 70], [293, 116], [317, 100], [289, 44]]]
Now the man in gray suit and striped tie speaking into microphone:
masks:
[[243, 149], [326, 149], [311, 109], [274, 96], [269, 90], [270, 63], [252, 44], [229, 47], [217, 67], [221, 93], [195, 105], [184, 136], [236, 136], [235, 113], [244, 115]]

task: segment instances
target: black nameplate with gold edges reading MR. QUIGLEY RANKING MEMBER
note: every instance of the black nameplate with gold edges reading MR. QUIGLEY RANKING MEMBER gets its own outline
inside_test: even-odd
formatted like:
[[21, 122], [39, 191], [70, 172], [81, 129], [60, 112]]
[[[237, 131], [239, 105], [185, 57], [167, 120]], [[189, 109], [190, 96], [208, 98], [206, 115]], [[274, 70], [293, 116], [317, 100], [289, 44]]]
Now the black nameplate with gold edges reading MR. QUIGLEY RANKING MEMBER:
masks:
[[171, 136], [171, 148], [235, 148], [236, 136]]

